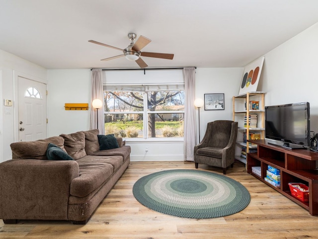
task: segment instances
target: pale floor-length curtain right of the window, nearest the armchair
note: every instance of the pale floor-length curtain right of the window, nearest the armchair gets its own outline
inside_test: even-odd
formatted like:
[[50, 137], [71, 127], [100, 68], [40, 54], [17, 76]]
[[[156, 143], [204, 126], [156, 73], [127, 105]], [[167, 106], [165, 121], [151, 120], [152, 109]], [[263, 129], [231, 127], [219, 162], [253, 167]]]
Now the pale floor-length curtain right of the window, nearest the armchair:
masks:
[[195, 145], [195, 68], [183, 68], [184, 88], [185, 88], [185, 108], [184, 108], [184, 161], [193, 161], [193, 148]]

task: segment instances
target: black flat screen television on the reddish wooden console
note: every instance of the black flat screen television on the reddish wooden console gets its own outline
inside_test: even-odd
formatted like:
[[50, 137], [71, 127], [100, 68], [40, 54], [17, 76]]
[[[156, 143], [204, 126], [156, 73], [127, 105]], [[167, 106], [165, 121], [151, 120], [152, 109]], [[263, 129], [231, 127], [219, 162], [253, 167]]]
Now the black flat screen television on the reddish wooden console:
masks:
[[283, 145], [277, 145], [286, 148], [310, 146], [309, 109], [308, 102], [265, 107], [265, 138], [281, 141]]

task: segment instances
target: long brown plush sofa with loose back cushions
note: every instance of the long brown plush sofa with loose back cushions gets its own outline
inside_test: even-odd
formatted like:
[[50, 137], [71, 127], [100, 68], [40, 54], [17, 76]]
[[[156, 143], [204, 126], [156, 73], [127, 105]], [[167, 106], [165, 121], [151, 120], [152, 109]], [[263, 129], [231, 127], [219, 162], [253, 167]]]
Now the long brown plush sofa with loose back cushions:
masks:
[[[130, 146], [99, 150], [98, 129], [12, 143], [0, 163], [0, 219], [70, 220], [86, 224], [130, 163]], [[53, 143], [74, 160], [47, 160]], [[60, 149], [59, 149], [60, 150]]]

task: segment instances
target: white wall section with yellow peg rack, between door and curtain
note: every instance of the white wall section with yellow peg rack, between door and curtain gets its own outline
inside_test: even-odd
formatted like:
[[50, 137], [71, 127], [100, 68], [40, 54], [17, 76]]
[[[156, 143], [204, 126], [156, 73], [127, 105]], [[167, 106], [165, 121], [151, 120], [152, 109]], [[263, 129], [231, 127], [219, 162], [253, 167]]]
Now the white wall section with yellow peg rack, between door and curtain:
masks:
[[[48, 70], [48, 135], [89, 130], [90, 70]], [[88, 103], [88, 111], [66, 111], [65, 103]]]

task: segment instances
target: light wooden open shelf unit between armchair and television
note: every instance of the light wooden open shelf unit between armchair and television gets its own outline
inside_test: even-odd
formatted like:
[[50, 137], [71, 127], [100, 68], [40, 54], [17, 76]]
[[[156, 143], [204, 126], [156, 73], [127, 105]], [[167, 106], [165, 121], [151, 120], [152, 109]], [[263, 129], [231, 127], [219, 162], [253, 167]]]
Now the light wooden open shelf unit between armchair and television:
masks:
[[[263, 92], [247, 92], [245, 94], [233, 97], [233, 121], [239, 122], [239, 131], [246, 132], [246, 135], [249, 135], [250, 132], [259, 132], [261, 139], [264, 139], [265, 130], [264, 96], [265, 93]], [[259, 101], [259, 110], [249, 109], [248, 104], [251, 100]], [[246, 107], [244, 107], [245, 104]], [[244, 127], [244, 115], [246, 115], [247, 120], [249, 115], [257, 115], [257, 127]], [[251, 143], [244, 143], [242, 137], [242, 133], [238, 133], [237, 146], [240, 147], [240, 149], [237, 149], [236, 151], [241, 151], [241, 148], [245, 147], [246, 153], [248, 153], [249, 149], [256, 148], [256, 146], [252, 145]], [[243, 163], [246, 163], [246, 160], [240, 157], [240, 153], [236, 153], [235, 158]]]

